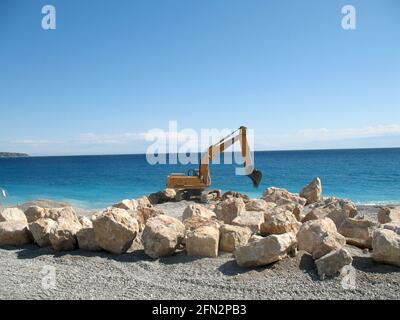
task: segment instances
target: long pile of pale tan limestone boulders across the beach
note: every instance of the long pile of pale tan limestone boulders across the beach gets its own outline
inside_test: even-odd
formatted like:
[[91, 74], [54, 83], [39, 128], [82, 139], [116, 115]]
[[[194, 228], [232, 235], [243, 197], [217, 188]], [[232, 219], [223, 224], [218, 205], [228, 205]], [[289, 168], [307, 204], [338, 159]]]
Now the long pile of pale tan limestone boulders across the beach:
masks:
[[242, 267], [268, 265], [302, 250], [325, 278], [352, 264], [345, 247], [349, 244], [372, 250], [376, 262], [400, 266], [399, 208], [381, 208], [379, 223], [358, 217], [352, 202], [322, 198], [319, 178], [299, 194], [275, 187], [266, 189], [260, 199], [238, 192], [215, 194], [209, 197], [213, 205], [188, 205], [181, 220], [154, 206], [179, 201], [172, 189], [122, 200], [90, 219], [78, 218], [68, 206], [31, 206], [25, 212], [7, 208], [0, 212], [0, 245], [33, 241], [57, 251], [79, 247], [113, 254], [142, 247], [155, 259], [177, 251], [212, 258], [227, 252]]

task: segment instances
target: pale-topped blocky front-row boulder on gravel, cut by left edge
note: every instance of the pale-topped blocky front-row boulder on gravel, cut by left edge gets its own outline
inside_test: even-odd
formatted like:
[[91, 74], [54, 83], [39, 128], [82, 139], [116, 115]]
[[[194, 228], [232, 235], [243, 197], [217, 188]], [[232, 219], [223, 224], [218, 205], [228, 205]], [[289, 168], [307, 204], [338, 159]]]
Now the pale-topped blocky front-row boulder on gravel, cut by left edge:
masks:
[[20, 246], [31, 242], [28, 224], [22, 221], [0, 222], [0, 245]]

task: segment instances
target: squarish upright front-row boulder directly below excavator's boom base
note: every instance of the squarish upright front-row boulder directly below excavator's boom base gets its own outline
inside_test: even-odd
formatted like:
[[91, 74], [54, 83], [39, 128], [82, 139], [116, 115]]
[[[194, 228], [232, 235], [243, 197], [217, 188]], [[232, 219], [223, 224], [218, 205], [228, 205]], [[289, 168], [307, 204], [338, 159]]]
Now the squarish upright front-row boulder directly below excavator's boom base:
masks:
[[189, 256], [218, 257], [219, 230], [204, 226], [186, 235], [186, 252]]

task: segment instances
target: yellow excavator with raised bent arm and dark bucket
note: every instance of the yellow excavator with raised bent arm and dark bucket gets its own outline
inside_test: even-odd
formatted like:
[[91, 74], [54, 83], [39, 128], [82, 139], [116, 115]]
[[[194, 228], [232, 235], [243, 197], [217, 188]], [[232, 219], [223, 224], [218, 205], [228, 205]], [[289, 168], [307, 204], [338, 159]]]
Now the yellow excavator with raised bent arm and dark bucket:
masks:
[[196, 191], [199, 193], [203, 192], [211, 185], [209, 163], [216, 155], [224, 152], [224, 150], [237, 141], [241, 145], [245, 175], [251, 179], [254, 187], [258, 187], [261, 182], [262, 173], [254, 169], [253, 159], [247, 142], [247, 128], [242, 126], [221, 139], [218, 143], [210, 146], [208, 151], [203, 155], [198, 170], [190, 169], [186, 175], [181, 173], [169, 175], [167, 178], [167, 188], [193, 193], [196, 193]]

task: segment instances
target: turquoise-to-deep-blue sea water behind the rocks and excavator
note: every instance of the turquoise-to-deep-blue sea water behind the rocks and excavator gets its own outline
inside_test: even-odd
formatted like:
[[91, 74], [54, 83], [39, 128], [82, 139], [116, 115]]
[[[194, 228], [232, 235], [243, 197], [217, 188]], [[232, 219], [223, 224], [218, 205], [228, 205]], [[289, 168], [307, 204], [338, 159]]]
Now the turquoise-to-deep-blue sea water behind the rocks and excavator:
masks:
[[[400, 149], [256, 152], [255, 166], [263, 172], [258, 189], [235, 175], [235, 165], [212, 165], [212, 188], [259, 197], [269, 186], [298, 192], [319, 176], [325, 196], [400, 203]], [[102, 208], [163, 189], [169, 173], [190, 168], [196, 166], [149, 165], [145, 155], [3, 158], [0, 187], [8, 204], [41, 198]]]

